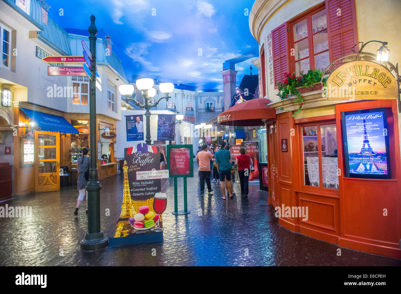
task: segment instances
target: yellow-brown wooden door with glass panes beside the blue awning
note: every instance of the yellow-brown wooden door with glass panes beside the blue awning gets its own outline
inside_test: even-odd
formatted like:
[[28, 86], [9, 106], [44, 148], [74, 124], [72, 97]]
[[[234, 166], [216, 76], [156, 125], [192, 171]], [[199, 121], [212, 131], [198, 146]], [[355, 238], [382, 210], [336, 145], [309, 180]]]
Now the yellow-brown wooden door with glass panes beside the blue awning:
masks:
[[60, 190], [60, 134], [35, 132], [35, 190]]

